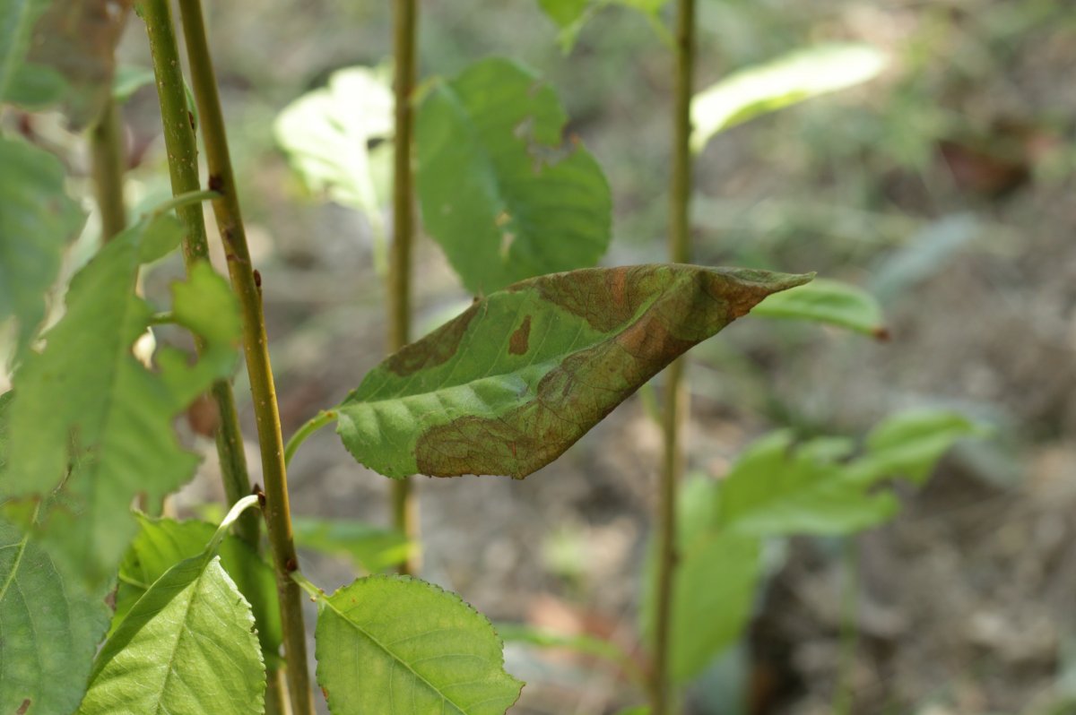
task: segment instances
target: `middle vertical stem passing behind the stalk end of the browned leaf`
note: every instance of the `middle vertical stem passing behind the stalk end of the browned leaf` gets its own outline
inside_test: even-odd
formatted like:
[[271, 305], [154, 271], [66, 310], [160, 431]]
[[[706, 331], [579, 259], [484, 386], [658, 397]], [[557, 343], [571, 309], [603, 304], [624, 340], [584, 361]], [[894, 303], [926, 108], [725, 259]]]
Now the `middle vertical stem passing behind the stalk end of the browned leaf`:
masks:
[[[416, 0], [395, 0], [393, 83], [396, 106], [395, 154], [393, 156], [393, 246], [388, 257], [388, 347], [395, 353], [410, 341], [411, 331], [411, 244], [414, 237], [413, 174], [411, 168], [415, 84]], [[393, 524], [412, 544], [419, 543], [419, 500], [410, 477], [393, 482]], [[421, 568], [417, 548], [400, 566], [400, 573]]]

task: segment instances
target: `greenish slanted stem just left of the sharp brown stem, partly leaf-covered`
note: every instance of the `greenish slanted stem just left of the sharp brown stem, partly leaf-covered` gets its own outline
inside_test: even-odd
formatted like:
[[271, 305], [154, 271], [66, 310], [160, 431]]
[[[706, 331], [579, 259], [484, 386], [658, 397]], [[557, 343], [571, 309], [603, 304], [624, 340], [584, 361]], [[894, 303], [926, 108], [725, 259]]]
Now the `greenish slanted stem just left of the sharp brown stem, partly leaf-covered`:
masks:
[[[139, 15], [145, 22], [150, 37], [160, 117], [165, 128], [165, 147], [168, 149], [168, 172], [174, 197], [170, 203], [174, 204], [175, 213], [187, 232], [183, 241], [183, 259], [189, 269], [196, 261], [209, 260], [201, 200], [214, 195], [201, 190], [198, 177], [198, 146], [187, 111], [186, 85], [180, 69], [171, 10], [165, 0], [141, 0]], [[204, 342], [198, 339], [195, 346], [201, 353]], [[224, 380], [213, 384], [212, 395], [221, 416], [216, 433], [221, 477], [228, 503], [233, 504], [251, 494], [236, 398], [231, 384]], [[251, 512], [243, 514], [236, 524], [236, 533], [255, 548], [259, 541], [258, 529], [257, 514]]]

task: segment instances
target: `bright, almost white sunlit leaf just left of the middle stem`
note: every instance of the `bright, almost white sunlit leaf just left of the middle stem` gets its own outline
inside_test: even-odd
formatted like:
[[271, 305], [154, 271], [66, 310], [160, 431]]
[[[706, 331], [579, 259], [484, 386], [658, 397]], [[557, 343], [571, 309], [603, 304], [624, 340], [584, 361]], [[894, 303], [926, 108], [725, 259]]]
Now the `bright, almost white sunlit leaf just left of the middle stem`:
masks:
[[[273, 127], [292, 167], [314, 191], [363, 213], [373, 233], [377, 260], [384, 261], [384, 186], [376, 168], [393, 137], [393, 92], [388, 68], [350, 67], [327, 87], [288, 104]], [[371, 149], [376, 141], [385, 142]]]

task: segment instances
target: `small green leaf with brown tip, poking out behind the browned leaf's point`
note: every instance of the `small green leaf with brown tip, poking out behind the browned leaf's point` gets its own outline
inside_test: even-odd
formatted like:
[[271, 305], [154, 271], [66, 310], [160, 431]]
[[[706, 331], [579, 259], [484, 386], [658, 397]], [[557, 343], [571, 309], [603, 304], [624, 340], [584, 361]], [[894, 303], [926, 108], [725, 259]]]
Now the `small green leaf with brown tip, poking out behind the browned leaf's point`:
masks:
[[829, 323], [879, 340], [889, 337], [881, 306], [874, 296], [839, 281], [815, 278], [808, 285], [775, 294], [759, 303], [754, 314]]

